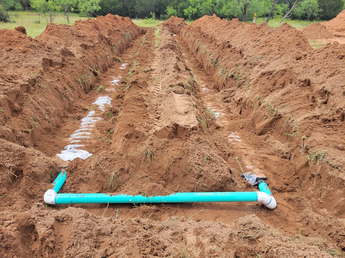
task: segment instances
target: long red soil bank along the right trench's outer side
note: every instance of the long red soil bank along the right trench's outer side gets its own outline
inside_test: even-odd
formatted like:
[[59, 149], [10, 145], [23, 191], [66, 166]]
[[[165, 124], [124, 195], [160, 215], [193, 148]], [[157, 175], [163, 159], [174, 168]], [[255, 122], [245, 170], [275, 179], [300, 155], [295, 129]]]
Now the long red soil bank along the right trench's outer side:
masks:
[[[331, 227], [337, 221], [329, 233], [344, 248], [345, 203], [339, 196], [345, 187], [345, 45], [335, 42], [314, 51], [303, 33], [286, 23], [262, 29], [215, 15], [183, 28], [180, 37], [213, 78], [223, 108], [244, 119], [267, 146], [276, 146], [267, 157], [296, 166], [298, 192], [308, 193], [296, 204], [299, 212], [308, 210], [309, 218], [323, 209], [335, 213], [323, 223]], [[268, 178], [278, 178], [272, 188], [287, 191], [295, 180], [284, 185], [282, 178], [290, 173], [267, 170]]]

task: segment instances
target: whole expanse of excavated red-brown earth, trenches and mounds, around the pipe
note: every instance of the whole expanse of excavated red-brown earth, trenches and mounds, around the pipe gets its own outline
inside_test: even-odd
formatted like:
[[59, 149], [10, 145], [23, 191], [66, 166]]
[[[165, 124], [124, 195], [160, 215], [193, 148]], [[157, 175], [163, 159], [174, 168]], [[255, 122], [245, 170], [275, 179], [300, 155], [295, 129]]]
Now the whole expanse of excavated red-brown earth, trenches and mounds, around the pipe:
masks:
[[[18, 51], [18, 59], [28, 52], [33, 56], [25, 67], [10, 66], [11, 80], [2, 77], [3, 85], [13, 84], [1, 98], [2, 257], [341, 254], [344, 187], [337, 150], [343, 144], [338, 137], [343, 120], [336, 95], [340, 89], [328, 85], [344, 75], [337, 60], [342, 45], [313, 51], [303, 36], [296, 41], [292, 35], [299, 37], [299, 32], [285, 24], [273, 30], [207, 16], [189, 26], [171, 18], [148, 30], [113, 15], [51, 26], [37, 39], [1, 31], [16, 34], [13, 44], [21, 44], [7, 52]], [[82, 43], [59, 42], [60, 30]], [[56, 39], [42, 47], [53, 57], [44, 56], [42, 69], [29, 76], [32, 64], [42, 58], [32, 53], [45, 35]], [[273, 55], [275, 48], [267, 44], [282, 35], [286, 42]], [[337, 71], [308, 66], [309, 60], [324, 56], [338, 65]], [[9, 66], [7, 59], [2, 63]], [[314, 80], [306, 67], [327, 75]], [[18, 78], [18, 71], [28, 77]], [[302, 89], [296, 93], [296, 87]], [[291, 100], [303, 94], [311, 104]], [[327, 123], [317, 122], [323, 116], [331, 120], [332, 133], [325, 130]], [[337, 146], [331, 144], [336, 141]], [[327, 149], [327, 156], [305, 162], [315, 147]], [[66, 165], [63, 193], [256, 191], [240, 178], [254, 172], [267, 176], [278, 206], [44, 206], [43, 193]]]

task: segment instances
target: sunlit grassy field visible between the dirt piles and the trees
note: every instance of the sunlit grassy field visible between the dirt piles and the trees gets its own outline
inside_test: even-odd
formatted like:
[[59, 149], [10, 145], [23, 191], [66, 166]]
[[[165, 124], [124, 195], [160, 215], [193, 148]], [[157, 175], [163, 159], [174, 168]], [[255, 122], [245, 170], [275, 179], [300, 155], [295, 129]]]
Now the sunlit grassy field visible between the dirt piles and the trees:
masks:
[[[41, 15], [40, 20], [38, 19], [38, 14], [33, 11], [13, 11], [10, 12], [11, 15], [11, 23], [4, 23], [0, 22], [0, 29], [9, 29], [13, 30], [15, 27], [18, 26], [24, 26], [26, 29], [26, 32], [28, 36], [36, 37], [38, 36], [47, 26], [47, 21], [44, 15]], [[80, 19], [87, 19], [86, 17], [81, 17], [77, 14], [70, 14], [70, 25], [73, 25], [76, 20]], [[272, 19], [268, 22], [268, 25], [276, 28], [280, 25], [278, 18]], [[39, 22], [38, 22], [39, 21]], [[161, 20], [145, 20], [145, 19], [133, 19], [132, 20], [135, 24], [142, 27], [151, 27], [156, 26], [157, 24], [161, 23]], [[193, 21], [186, 21], [187, 24], [192, 23]], [[258, 19], [258, 24], [262, 23], [263, 19]], [[286, 21], [288, 24], [295, 28], [303, 28], [309, 24], [309, 22], [306, 21]], [[315, 21], [316, 22], [316, 21]], [[56, 15], [54, 23], [61, 24], [61, 23], [67, 23], [67, 20], [63, 13], [58, 13]]]

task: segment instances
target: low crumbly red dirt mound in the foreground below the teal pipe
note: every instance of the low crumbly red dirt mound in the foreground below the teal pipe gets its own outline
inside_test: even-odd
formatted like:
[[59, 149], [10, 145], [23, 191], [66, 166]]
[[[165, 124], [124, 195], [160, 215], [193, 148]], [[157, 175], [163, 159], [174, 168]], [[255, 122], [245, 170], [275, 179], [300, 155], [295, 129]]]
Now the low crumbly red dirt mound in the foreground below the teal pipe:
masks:
[[[1, 232], [2, 257], [332, 257], [323, 251], [332, 248], [323, 241], [286, 237], [255, 215], [231, 224], [175, 216], [152, 223], [95, 216], [73, 207], [49, 211], [36, 203], [18, 218], [6, 212], [0, 216], [8, 225]], [[32, 243], [29, 248], [21, 245], [26, 241]]]

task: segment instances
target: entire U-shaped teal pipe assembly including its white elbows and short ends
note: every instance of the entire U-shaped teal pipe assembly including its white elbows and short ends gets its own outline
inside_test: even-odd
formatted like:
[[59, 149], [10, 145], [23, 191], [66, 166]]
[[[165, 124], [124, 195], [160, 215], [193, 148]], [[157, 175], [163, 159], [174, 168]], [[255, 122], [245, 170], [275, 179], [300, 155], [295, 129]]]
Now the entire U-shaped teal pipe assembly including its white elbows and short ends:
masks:
[[163, 196], [142, 196], [105, 193], [61, 193], [57, 194], [66, 181], [66, 171], [61, 171], [52, 183], [53, 188], [46, 191], [44, 201], [47, 204], [76, 203], [191, 203], [191, 202], [262, 202], [273, 209], [277, 203], [266, 182], [258, 184], [258, 192], [199, 192], [173, 193]]

